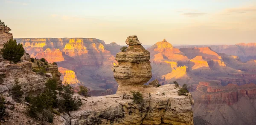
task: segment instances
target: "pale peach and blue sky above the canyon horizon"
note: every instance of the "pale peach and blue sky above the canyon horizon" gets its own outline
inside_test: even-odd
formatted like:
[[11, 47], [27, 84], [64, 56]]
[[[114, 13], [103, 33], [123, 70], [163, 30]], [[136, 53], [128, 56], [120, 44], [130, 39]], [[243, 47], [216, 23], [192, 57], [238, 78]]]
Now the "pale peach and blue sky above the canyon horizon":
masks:
[[14, 38], [98, 38], [143, 45], [256, 43], [256, 0], [0, 0]]

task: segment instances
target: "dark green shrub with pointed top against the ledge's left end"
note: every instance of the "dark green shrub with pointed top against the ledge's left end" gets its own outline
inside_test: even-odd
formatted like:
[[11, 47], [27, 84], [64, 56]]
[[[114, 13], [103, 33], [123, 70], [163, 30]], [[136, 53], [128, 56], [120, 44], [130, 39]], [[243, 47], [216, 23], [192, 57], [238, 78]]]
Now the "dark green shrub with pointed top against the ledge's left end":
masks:
[[81, 99], [76, 96], [73, 97], [74, 88], [71, 87], [67, 82], [62, 86], [63, 93], [61, 94], [62, 99], [58, 102], [58, 108], [60, 112], [64, 111], [76, 111], [82, 105]]

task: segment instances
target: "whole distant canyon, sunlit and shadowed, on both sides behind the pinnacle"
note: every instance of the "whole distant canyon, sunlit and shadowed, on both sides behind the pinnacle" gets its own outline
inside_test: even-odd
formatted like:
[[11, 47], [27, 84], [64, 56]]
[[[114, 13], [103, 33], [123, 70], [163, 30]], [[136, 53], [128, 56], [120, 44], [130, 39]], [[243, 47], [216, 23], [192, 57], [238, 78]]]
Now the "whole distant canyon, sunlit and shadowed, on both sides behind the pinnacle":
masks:
[[[118, 84], [111, 67], [118, 65], [115, 55], [121, 45], [95, 38], [16, 40], [31, 57], [57, 62], [63, 83], [84, 85], [92, 96], [116, 93]], [[190, 86], [195, 100], [194, 121], [201, 116], [212, 125], [256, 124], [254, 43], [173, 46], [164, 39], [146, 48], [152, 66], [150, 81], [158, 79], [161, 85], [177, 81]]]

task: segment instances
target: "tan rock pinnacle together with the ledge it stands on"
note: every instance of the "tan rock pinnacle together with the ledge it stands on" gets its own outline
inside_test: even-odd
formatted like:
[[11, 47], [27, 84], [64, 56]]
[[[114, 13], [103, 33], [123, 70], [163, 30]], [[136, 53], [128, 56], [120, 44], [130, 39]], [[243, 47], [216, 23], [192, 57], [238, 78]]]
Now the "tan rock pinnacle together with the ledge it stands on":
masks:
[[[62, 115], [58, 125], [193, 125], [192, 95], [179, 96], [175, 85], [143, 85], [151, 78], [150, 53], [137, 36], [125, 41], [127, 51], [116, 54], [112, 70], [119, 84], [114, 95], [82, 98], [79, 111]], [[144, 102], [136, 104], [130, 91], [140, 91]]]

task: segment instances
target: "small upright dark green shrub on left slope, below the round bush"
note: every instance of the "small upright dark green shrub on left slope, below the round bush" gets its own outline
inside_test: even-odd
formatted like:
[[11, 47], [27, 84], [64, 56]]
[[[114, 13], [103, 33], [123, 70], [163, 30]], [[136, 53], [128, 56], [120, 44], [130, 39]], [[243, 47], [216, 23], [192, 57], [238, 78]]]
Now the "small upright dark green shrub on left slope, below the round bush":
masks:
[[15, 85], [12, 87], [12, 98], [17, 101], [20, 102], [22, 95], [23, 95], [23, 91], [20, 85], [19, 80], [16, 78], [15, 79]]

